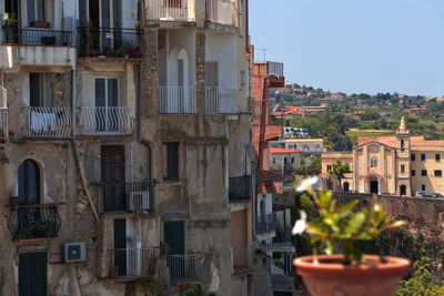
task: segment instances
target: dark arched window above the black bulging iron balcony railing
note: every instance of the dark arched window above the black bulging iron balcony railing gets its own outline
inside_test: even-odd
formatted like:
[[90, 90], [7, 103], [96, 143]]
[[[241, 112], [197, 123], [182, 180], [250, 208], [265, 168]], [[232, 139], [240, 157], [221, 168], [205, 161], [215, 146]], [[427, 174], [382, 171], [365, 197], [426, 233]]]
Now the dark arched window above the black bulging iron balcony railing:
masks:
[[19, 166], [19, 204], [40, 204], [40, 171], [32, 160], [26, 160]]

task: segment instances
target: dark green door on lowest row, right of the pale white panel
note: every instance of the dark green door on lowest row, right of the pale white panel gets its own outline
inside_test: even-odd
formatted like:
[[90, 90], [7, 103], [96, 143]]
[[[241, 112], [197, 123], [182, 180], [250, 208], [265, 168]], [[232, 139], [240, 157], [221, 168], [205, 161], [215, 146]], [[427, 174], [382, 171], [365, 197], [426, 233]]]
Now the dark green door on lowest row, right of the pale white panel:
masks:
[[185, 279], [185, 223], [169, 221], [163, 224], [163, 242], [170, 247], [167, 265], [172, 280]]

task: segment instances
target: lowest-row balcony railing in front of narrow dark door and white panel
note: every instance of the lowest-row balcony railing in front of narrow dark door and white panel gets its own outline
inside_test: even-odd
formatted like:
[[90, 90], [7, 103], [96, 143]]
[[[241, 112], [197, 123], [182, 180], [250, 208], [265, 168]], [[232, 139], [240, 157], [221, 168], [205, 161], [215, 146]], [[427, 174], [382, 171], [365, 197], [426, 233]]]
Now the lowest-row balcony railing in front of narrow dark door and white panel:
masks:
[[154, 275], [159, 255], [159, 247], [110, 249], [108, 253], [110, 274], [118, 276]]

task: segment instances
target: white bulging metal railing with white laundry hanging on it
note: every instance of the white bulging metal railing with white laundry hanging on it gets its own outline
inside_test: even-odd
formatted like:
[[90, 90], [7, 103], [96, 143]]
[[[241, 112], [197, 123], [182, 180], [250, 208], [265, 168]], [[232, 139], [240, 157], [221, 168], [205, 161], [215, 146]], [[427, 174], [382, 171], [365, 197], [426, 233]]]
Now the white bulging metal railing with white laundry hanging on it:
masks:
[[71, 108], [28, 108], [28, 135], [31, 137], [67, 139], [72, 133]]

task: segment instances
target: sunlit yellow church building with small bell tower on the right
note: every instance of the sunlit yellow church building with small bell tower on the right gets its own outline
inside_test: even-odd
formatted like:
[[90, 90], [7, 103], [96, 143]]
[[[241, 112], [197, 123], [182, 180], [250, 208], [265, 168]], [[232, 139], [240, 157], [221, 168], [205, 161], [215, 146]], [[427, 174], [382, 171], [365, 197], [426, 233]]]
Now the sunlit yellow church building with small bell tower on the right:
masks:
[[340, 159], [352, 170], [341, 181], [345, 191], [401, 196], [444, 193], [442, 155], [444, 141], [411, 136], [402, 118], [394, 136], [360, 136], [351, 152], [323, 153], [322, 174], [329, 187], [339, 188], [327, 174]]

